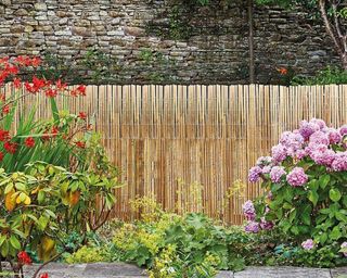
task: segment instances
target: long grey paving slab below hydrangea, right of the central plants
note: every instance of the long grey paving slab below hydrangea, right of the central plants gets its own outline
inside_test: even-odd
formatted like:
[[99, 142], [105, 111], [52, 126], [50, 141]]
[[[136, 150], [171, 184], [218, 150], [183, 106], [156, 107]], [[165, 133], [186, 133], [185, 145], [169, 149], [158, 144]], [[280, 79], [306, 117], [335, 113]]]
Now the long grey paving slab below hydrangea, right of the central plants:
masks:
[[330, 269], [306, 267], [247, 267], [234, 278], [331, 278]]

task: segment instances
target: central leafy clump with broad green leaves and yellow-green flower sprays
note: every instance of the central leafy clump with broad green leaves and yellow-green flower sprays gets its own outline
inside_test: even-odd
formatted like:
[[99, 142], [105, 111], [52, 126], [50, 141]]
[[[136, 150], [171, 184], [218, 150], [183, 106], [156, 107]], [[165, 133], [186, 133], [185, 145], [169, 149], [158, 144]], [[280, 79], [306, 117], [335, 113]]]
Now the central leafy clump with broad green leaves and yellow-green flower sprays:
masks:
[[[149, 202], [138, 201], [136, 208], [144, 211], [145, 204]], [[213, 277], [216, 269], [244, 267], [233, 244], [233, 232], [226, 227], [203, 214], [179, 216], [153, 203], [149, 207], [142, 220], [116, 230], [113, 243], [120, 261], [149, 267], [152, 277]], [[171, 276], [159, 275], [168, 268]]]

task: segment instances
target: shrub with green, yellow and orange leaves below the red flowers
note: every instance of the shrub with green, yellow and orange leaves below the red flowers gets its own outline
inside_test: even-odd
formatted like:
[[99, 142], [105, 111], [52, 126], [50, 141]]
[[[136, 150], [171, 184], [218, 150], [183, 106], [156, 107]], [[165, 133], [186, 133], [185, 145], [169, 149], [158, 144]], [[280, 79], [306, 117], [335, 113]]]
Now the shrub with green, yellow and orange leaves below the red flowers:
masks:
[[[83, 243], [89, 230], [98, 229], [100, 223], [92, 215], [101, 219], [106, 212], [95, 208], [95, 195], [105, 200], [105, 210], [110, 211], [115, 203], [116, 187], [118, 182], [105, 176], [70, 173], [43, 162], [29, 164], [25, 173], [8, 174], [1, 169], [2, 257], [13, 263], [20, 251], [27, 250], [40, 261], [50, 261], [57, 245], [73, 251]], [[72, 233], [78, 235], [74, 244], [68, 236]]]

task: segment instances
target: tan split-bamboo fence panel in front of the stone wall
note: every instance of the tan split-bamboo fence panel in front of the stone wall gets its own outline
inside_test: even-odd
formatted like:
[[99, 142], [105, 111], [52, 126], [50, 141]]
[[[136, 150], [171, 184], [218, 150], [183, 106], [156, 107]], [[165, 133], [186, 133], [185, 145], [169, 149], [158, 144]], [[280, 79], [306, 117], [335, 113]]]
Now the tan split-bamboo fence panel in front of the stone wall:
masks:
[[[347, 123], [347, 86], [334, 85], [88, 86], [87, 97], [57, 102], [95, 115], [95, 129], [123, 173], [113, 216], [124, 219], [137, 217], [129, 200], [147, 195], [167, 210], [240, 224], [242, 203], [261, 194], [259, 185], [246, 185], [248, 168], [282, 131], [311, 117], [335, 127]], [[49, 116], [47, 98], [20, 102], [23, 112], [34, 104], [38, 117]], [[236, 194], [240, 182], [245, 191]]]

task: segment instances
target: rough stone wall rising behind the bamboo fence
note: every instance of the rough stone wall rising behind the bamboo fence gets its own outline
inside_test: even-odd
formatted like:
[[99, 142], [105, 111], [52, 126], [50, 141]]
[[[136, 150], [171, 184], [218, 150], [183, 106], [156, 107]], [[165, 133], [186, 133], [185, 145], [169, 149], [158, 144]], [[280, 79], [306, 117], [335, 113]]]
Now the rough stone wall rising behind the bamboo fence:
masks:
[[[247, 83], [244, 1], [208, 8], [172, 1], [0, 0], [0, 55], [51, 53], [69, 64], [95, 48], [113, 61], [101, 65], [111, 73], [107, 83]], [[301, 11], [256, 9], [259, 83], [281, 81], [282, 66], [311, 75], [338, 64], [322, 27], [306, 18]], [[93, 83], [91, 65], [77, 64]]]

